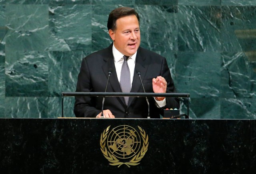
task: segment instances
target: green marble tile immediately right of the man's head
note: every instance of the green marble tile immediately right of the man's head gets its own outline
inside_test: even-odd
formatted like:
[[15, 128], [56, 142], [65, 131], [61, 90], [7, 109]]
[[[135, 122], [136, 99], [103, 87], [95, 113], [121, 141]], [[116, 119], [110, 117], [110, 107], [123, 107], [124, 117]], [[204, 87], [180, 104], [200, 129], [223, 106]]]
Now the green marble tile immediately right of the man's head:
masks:
[[136, 6], [140, 45], [155, 52], [177, 51], [177, 6]]

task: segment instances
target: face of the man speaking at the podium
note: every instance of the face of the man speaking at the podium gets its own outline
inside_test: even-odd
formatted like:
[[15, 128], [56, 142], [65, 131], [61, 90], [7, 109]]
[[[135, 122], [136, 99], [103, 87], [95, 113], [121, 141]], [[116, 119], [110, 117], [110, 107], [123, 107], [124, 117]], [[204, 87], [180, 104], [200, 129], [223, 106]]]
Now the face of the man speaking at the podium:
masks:
[[116, 30], [109, 30], [118, 51], [132, 56], [140, 46], [140, 26], [135, 15], [125, 16], [116, 20]]

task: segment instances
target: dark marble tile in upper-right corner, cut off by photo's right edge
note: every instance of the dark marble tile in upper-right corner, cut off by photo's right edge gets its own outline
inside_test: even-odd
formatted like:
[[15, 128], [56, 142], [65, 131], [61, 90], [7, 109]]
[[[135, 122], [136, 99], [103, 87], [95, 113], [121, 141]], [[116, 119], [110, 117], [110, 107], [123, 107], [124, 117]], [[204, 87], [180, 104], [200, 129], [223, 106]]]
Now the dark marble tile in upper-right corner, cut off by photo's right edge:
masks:
[[242, 51], [235, 30], [256, 28], [255, 6], [222, 6], [222, 51]]

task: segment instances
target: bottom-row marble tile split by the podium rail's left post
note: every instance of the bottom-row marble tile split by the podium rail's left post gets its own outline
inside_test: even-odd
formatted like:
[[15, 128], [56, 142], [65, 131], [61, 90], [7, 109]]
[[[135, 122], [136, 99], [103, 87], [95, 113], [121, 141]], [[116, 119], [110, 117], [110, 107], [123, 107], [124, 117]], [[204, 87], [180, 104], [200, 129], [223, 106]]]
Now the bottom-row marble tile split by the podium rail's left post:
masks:
[[[74, 97], [63, 98], [63, 116], [64, 117], [75, 117], [74, 103], [75, 103]], [[62, 117], [61, 97], [49, 97], [48, 116], [50, 118]]]

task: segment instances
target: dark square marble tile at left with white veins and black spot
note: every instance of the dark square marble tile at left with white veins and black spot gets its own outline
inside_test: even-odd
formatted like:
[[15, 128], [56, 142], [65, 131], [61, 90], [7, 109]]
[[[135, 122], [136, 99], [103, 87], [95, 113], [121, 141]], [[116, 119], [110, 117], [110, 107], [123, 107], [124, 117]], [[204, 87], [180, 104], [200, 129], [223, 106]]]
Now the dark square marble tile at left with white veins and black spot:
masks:
[[6, 96], [48, 95], [47, 52], [6, 53]]

